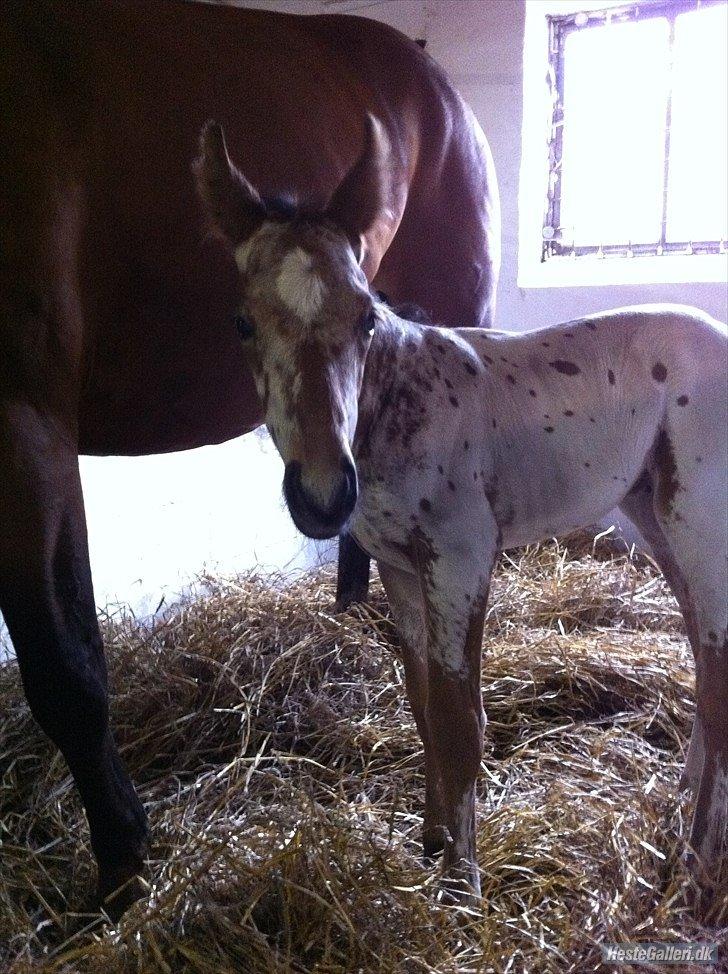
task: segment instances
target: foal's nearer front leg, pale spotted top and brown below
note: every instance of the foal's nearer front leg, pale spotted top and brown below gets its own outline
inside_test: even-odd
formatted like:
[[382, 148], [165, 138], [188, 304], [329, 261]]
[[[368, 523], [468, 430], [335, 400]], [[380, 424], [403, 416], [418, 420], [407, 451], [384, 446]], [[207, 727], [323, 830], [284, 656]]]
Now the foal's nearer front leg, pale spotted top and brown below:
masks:
[[423, 535], [417, 563], [427, 622], [426, 721], [439, 771], [447, 841], [445, 888], [468, 901], [480, 896], [475, 848], [475, 786], [485, 713], [480, 657], [495, 532], [470, 533], [456, 547], [447, 530]]

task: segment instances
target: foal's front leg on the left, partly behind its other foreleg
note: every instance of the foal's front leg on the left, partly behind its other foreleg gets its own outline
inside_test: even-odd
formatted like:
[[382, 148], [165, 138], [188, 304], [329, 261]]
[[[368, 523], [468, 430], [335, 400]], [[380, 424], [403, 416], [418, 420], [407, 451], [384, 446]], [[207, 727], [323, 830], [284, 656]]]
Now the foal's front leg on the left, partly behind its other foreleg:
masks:
[[379, 576], [389, 599], [399, 633], [404, 661], [407, 697], [412, 707], [425, 755], [425, 817], [422, 849], [425, 858], [442, 852], [445, 847], [444, 812], [440, 775], [434, 760], [427, 709], [427, 635], [425, 607], [417, 576], [379, 562]]

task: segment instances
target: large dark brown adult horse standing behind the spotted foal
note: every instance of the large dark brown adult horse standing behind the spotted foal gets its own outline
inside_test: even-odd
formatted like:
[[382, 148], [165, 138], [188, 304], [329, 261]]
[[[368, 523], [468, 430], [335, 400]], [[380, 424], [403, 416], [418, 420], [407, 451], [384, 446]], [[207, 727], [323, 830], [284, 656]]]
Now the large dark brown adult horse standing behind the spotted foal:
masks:
[[186, 449], [262, 419], [234, 262], [200, 234], [202, 122], [224, 124], [263, 193], [320, 207], [373, 112], [394, 151], [364, 270], [446, 324], [491, 323], [495, 180], [442, 72], [374, 22], [10, 0], [0, 51], [0, 610], [108, 892], [146, 827], [108, 730], [78, 454]]

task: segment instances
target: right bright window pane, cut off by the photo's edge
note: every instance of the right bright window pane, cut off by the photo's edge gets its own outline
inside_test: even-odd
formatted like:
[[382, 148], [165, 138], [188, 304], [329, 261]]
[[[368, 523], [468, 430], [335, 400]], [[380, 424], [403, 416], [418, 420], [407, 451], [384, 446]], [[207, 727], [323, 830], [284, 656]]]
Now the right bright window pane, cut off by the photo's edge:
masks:
[[728, 8], [675, 20], [667, 239], [728, 237]]

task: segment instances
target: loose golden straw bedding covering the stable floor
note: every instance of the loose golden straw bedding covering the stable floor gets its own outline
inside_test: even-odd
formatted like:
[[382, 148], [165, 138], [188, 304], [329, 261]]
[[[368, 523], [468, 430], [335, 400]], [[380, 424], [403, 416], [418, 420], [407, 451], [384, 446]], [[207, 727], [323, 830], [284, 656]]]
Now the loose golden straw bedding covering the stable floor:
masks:
[[602, 941], [725, 949], [726, 912], [704, 928], [686, 906], [680, 615], [647, 560], [590, 545], [505, 556], [494, 582], [469, 914], [420, 861], [422, 752], [376, 580], [340, 615], [319, 572], [203, 579], [151, 629], [105, 620], [154, 837], [148, 900], [118, 927], [84, 913], [78, 798], [0, 667], [0, 970], [582, 974]]

